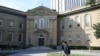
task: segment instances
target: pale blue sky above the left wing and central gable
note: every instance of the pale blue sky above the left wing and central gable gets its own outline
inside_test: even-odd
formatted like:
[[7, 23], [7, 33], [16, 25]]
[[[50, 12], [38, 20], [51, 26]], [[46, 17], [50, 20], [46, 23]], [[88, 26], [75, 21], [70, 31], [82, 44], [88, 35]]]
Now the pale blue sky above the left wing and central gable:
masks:
[[27, 11], [38, 6], [50, 8], [50, 0], [0, 0], [0, 6]]

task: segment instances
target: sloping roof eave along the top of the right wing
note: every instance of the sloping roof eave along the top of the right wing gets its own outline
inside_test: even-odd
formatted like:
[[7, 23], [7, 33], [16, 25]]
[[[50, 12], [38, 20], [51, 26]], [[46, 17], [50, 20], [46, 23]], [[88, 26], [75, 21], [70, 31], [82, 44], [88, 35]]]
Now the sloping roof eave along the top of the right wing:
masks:
[[61, 12], [59, 13], [59, 16], [72, 15], [72, 14], [81, 13], [84, 11], [90, 11], [90, 10], [94, 10], [98, 8], [100, 8], [100, 4], [94, 5], [94, 6], [84, 6], [81, 8], [74, 9], [74, 10]]

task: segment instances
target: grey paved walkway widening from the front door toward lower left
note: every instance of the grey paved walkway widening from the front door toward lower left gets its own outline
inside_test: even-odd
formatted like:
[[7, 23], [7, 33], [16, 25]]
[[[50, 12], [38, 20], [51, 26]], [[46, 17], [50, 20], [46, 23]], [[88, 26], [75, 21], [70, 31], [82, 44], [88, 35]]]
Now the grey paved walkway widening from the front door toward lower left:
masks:
[[47, 56], [49, 51], [51, 51], [51, 49], [48, 47], [32, 47], [20, 53], [9, 56]]

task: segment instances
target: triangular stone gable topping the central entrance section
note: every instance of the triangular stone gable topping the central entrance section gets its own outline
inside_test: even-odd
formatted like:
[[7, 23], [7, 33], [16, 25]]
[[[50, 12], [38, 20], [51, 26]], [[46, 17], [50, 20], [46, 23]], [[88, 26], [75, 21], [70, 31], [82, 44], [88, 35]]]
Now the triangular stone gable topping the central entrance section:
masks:
[[31, 10], [28, 10], [27, 11], [27, 13], [26, 13], [27, 15], [30, 15], [30, 16], [38, 16], [38, 15], [56, 15], [57, 16], [57, 12], [56, 11], [54, 11], [54, 10], [51, 10], [51, 9], [49, 9], [49, 8], [47, 8], [47, 7], [44, 7], [44, 6], [39, 6], [39, 7], [37, 7], [37, 8], [34, 8], [34, 9], [31, 9]]

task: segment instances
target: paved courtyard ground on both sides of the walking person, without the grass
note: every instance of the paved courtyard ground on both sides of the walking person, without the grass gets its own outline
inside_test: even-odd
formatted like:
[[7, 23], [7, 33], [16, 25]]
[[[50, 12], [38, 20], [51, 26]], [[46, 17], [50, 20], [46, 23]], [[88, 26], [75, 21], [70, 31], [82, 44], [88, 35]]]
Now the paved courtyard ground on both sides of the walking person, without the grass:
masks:
[[[19, 53], [9, 55], [9, 56], [47, 56], [48, 52], [58, 52], [62, 51], [53, 51], [48, 47], [32, 47], [26, 50], [22, 50]], [[100, 56], [100, 51], [98, 50], [71, 50], [71, 54], [84, 54], [90, 56]]]

